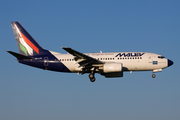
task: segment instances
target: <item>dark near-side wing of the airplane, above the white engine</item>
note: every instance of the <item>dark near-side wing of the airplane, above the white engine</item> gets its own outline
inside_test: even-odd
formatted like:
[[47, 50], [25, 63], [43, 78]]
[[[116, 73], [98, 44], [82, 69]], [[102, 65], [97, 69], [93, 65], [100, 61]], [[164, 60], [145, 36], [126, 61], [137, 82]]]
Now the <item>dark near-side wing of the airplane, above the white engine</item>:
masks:
[[62, 48], [74, 56], [74, 60], [80, 65], [79, 67], [87, 67], [87, 66], [93, 67], [93, 66], [101, 66], [102, 64], [104, 64], [104, 62], [100, 60], [96, 60], [88, 55], [80, 53], [71, 48], [68, 47], [62, 47]]

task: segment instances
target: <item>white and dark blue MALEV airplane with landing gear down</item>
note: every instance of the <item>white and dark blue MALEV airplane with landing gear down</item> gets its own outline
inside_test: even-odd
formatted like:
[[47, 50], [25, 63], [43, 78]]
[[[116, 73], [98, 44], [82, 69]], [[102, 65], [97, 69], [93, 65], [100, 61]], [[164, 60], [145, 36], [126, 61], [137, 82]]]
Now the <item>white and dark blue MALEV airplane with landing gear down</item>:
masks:
[[19, 63], [57, 72], [89, 73], [91, 82], [95, 73], [106, 78], [123, 77], [124, 71], [152, 71], [154, 73], [173, 65], [173, 61], [162, 55], [148, 52], [81, 53], [62, 47], [68, 54], [42, 48], [19, 22], [11, 22], [19, 53], [7, 51]]

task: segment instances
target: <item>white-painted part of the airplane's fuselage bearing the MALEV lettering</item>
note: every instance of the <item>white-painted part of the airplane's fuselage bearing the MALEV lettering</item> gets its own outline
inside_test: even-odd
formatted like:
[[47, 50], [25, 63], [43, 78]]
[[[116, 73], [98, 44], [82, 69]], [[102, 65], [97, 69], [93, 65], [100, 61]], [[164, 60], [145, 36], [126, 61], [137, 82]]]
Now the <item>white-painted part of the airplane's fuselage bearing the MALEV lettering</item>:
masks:
[[[79, 64], [71, 54], [59, 54], [51, 52], [71, 72], [80, 72]], [[121, 63], [123, 71], [153, 71], [168, 67], [168, 62], [163, 56], [147, 52], [120, 52], [120, 53], [84, 53], [92, 58], [105, 63]]]

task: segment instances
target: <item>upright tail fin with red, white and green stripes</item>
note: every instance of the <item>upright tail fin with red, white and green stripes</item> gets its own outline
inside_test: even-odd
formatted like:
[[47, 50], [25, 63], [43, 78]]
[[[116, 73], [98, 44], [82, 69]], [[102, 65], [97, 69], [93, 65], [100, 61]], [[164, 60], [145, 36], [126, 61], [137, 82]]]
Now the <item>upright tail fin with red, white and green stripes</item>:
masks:
[[19, 22], [11, 22], [19, 53], [25, 56], [42, 54], [44, 50]]

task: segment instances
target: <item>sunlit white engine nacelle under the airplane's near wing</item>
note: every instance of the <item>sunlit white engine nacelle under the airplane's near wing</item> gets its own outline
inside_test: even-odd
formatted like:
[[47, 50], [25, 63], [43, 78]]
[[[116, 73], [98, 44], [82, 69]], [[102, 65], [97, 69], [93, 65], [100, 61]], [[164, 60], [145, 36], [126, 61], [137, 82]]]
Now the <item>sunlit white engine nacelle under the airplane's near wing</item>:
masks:
[[122, 64], [121, 63], [105, 63], [103, 66], [104, 73], [116, 73], [122, 72]]

